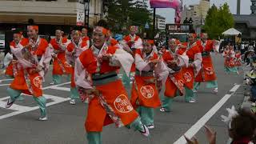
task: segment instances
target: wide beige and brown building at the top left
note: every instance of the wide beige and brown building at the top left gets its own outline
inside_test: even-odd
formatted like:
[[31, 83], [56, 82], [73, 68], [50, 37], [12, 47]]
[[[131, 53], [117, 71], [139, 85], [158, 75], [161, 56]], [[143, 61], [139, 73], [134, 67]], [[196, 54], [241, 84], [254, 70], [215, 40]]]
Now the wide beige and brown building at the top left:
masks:
[[[84, 14], [83, 0], [0, 0], [0, 28], [26, 25], [28, 19], [33, 19], [41, 30], [75, 26], [78, 11]], [[89, 26], [94, 26], [101, 16], [102, 0], [90, 0]]]

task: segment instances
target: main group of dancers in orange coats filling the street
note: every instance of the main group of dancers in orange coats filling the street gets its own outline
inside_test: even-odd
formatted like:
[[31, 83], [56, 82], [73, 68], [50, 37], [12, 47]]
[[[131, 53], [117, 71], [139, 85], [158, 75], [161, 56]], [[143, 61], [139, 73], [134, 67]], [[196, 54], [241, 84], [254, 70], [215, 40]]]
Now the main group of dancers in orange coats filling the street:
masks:
[[[171, 103], [177, 96], [185, 102], [196, 102], [194, 93], [202, 82], [218, 92], [216, 74], [210, 52], [215, 41], [206, 32], [188, 34], [188, 42], [171, 38], [168, 48], [159, 53], [153, 38], [140, 38], [136, 27], [130, 26], [130, 34], [123, 40], [111, 37], [107, 23], [99, 21], [92, 38], [82, 31], [73, 30], [71, 39], [56, 30], [56, 37], [46, 42], [38, 36], [38, 26], [28, 26], [24, 38], [20, 31], [10, 42], [13, 54], [6, 74], [13, 77], [7, 93], [10, 108], [20, 94], [30, 94], [41, 111], [39, 120], [46, 121], [46, 98], [42, 93], [44, 76], [49, 72], [53, 59], [53, 82], [62, 83], [63, 74], [70, 78], [70, 104], [76, 99], [88, 102], [85, 122], [89, 144], [102, 143], [102, 127], [114, 123], [138, 130], [148, 137], [154, 129], [154, 110], [170, 112]], [[131, 96], [128, 96], [118, 73], [127, 78], [134, 74]], [[165, 88], [165, 89], [164, 89]], [[160, 98], [160, 91], [164, 97]]]

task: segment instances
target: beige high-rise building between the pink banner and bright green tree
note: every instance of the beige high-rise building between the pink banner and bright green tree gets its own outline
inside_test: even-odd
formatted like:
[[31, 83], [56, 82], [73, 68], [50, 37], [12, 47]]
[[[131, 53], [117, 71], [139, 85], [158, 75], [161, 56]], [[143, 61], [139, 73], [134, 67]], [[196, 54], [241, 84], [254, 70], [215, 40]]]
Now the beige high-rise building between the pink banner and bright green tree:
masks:
[[210, 0], [200, 0], [196, 5], [184, 6], [182, 11], [182, 22], [188, 18], [192, 18], [194, 29], [198, 32], [204, 25], [206, 20], [206, 15], [210, 9]]

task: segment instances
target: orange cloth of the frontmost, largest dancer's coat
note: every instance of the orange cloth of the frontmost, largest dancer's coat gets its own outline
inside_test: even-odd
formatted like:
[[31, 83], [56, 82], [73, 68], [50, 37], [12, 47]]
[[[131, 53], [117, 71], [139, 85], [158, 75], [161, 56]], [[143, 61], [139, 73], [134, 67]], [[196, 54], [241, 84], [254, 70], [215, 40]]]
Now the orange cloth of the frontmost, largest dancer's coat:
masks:
[[[78, 69], [86, 70], [91, 76], [93, 74], [108, 74], [117, 71], [119, 66], [110, 66], [109, 60], [100, 60], [94, 50], [97, 49], [92, 46], [90, 49], [85, 50], [78, 58], [76, 66]], [[106, 54], [114, 54], [117, 47], [105, 46], [102, 49], [106, 50]], [[100, 52], [96, 52], [100, 53]], [[100, 63], [100, 65], [98, 65]], [[94, 83], [94, 80], [92, 81]], [[121, 80], [114, 80], [107, 83], [96, 85], [95, 88], [102, 93], [102, 96], [106, 99], [109, 106], [112, 107], [114, 113], [121, 118], [123, 125], [127, 125], [138, 118], [138, 113], [131, 106], [128, 94], [125, 87], [122, 85]], [[106, 110], [102, 107], [97, 96], [90, 100], [88, 106], [88, 113], [85, 122], [86, 131], [102, 131], [102, 127], [110, 123], [113, 123], [112, 119], [106, 113]]]

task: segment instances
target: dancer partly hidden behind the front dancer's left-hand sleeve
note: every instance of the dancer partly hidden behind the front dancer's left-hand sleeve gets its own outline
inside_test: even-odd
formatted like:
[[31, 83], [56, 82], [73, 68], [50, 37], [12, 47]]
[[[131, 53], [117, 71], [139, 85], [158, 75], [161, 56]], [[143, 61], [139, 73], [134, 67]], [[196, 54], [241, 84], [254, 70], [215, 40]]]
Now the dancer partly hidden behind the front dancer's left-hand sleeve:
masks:
[[71, 66], [71, 84], [70, 84], [70, 104], [74, 105], [76, 99], [79, 98], [78, 90], [74, 83], [74, 64], [76, 58], [82, 53], [82, 51], [89, 48], [86, 41], [82, 41], [81, 32], [79, 30], [74, 30], [72, 36], [72, 42], [66, 47], [66, 60]]

